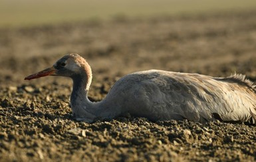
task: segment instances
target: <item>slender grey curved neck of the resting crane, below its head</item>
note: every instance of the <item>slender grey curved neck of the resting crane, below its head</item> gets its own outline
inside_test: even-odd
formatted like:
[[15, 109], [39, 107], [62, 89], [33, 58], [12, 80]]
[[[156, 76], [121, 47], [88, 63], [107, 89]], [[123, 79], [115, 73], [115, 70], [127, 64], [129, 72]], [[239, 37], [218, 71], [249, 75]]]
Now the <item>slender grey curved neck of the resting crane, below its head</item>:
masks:
[[[88, 75], [84, 75], [88, 76]], [[112, 99], [100, 102], [91, 102], [88, 99], [88, 90], [92, 77], [74, 77], [73, 89], [70, 97], [72, 114], [76, 120], [93, 122], [95, 119], [108, 119], [118, 116], [120, 108], [113, 105]]]

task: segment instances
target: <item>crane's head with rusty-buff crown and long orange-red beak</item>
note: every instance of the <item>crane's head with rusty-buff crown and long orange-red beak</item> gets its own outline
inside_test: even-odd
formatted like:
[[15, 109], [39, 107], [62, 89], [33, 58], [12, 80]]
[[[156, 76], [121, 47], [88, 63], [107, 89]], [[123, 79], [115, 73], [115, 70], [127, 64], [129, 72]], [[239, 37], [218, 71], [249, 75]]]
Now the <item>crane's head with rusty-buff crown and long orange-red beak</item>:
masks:
[[78, 75], [86, 75], [91, 77], [90, 65], [78, 54], [67, 54], [58, 60], [52, 67], [39, 71], [32, 75], [25, 77], [25, 80], [37, 79], [47, 75], [63, 76], [63, 77], [76, 77]]

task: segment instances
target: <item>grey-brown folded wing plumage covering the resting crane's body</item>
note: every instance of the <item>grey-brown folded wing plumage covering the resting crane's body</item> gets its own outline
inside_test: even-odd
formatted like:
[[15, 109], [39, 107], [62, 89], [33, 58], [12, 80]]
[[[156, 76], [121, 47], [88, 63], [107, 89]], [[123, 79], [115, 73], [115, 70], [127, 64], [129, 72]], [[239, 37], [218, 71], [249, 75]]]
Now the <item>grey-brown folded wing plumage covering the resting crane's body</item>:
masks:
[[[140, 71], [120, 79], [112, 93], [124, 94], [120, 98], [126, 95], [127, 111], [150, 120], [255, 122], [255, 89], [234, 80], [196, 73]], [[118, 93], [117, 87], [126, 88]]]

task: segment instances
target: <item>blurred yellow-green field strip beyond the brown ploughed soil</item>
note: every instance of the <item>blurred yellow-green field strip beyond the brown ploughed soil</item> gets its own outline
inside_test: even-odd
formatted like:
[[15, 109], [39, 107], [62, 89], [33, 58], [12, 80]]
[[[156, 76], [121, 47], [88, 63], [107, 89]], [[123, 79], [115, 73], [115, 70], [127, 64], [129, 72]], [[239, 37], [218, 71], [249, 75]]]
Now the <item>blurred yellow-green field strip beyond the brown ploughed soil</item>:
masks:
[[256, 8], [253, 0], [1, 0], [0, 26], [22, 27], [81, 20], [112, 20], [118, 17], [150, 18], [170, 15], [199, 15]]

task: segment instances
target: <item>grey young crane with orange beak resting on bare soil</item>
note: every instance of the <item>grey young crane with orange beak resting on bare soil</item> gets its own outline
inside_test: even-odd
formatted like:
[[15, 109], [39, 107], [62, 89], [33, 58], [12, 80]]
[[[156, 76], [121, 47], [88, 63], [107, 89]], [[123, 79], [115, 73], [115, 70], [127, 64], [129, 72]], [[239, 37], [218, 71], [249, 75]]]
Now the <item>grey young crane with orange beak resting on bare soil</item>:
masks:
[[98, 102], [88, 99], [92, 69], [78, 54], [66, 54], [52, 67], [25, 80], [47, 75], [72, 79], [70, 107], [78, 121], [91, 123], [130, 114], [153, 122], [256, 122], [256, 85], [241, 74], [211, 77], [157, 69], [138, 71], [121, 77]]

